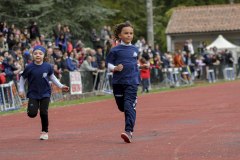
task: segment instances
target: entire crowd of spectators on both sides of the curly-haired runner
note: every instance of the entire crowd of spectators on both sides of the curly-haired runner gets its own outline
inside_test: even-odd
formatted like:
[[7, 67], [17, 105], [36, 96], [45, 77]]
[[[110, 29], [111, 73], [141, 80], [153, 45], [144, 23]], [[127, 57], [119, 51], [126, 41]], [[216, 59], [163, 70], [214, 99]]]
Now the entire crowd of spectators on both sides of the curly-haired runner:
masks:
[[[34, 21], [24, 28], [1, 22], [0, 84], [18, 81], [21, 71], [32, 62], [32, 49], [36, 45], [47, 48], [46, 61], [53, 65], [55, 75], [59, 79], [63, 72], [105, 70], [105, 58], [111, 47], [117, 45], [110, 26], [103, 26], [99, 32], [92, 29], [92, 47], [85, 46], [80, 39], [75, 43], [72, 40], [70, 27], [61, 23], [53, 28], [52, 37], [46, 38]], [[150, 46], [144, 37], [139, 38], [134, 45], [139, 48], [139, 64], [140, 60], [141, 63], [148, 64], [151, 79], [157, 80], [160, 80], [159, 74], [165, 68], [183, 68], [191, 76], [184, 77], [188, 80], [199, 78], [202, 66], [206, 66], [206, 69], [216, 65], [233, 66], [234, 61], [230, 51], [212, 48], [209, 53], [205, 43], [194, 49], [191, 39], [186, 40], [183, 47], [174, 52], [161, 52], [158, 44]], [[147, 88], [145, 90], [148, 91]]]

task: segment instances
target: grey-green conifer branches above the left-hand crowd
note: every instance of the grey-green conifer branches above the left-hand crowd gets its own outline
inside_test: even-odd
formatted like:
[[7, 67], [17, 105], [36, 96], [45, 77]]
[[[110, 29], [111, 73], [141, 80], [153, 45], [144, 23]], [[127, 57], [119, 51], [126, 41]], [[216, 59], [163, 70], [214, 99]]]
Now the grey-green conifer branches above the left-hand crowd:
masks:
[[89, 40], [92, 28], [99, 29], [116, 11], [102, 7], [97, 0], [2, 0], [0, 21], [28, 26], [38, 22], [42, 33], [51, 36], [57, 23], [68, 25], [75, 38]]

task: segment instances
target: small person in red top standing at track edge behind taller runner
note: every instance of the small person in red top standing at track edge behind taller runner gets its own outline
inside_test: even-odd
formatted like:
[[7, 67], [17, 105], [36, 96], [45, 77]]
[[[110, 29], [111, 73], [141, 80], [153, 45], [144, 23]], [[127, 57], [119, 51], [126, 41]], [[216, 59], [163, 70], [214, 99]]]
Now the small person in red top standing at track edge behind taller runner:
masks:
[[149, 92], [150, 85], [150, 63], [145, 58], [140, 58], [140, 77], [142, 82], [142, 93]]

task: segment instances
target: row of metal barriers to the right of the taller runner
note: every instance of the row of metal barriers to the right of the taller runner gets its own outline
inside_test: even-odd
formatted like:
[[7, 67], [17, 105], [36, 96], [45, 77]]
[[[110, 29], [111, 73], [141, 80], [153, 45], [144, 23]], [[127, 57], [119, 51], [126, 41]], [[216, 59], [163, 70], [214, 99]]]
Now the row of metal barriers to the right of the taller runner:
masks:
[[[239, 72], [238, 68], [238, 72]], [[235, 80], [237, 67], [226, 65], [201, 66], [195, 72], [184, 68], [151, 69], [151, 84], [158, 87], [191, 85], [196, 81], [214, 83], [218, 80]], [[197, 74], [197, 75], [196, 75]], [[186, 78], [187, 77], [187, 78]]]

